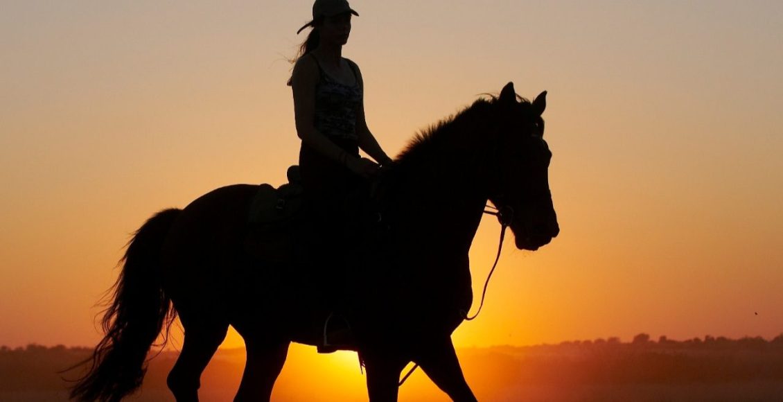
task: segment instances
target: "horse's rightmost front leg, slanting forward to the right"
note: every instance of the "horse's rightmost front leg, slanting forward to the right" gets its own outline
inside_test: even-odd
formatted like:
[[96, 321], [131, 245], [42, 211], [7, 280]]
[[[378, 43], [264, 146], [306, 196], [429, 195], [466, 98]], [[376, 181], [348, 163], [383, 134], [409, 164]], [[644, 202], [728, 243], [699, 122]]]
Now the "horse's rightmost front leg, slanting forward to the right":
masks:
[[448, 394], [452, 400], [456, 402], [476, 400], [462, 374], [460, 361], [456, 358], [451, 338], [447, 337], [437, 342], [428, 343], [427, 346], [421, 348], [421, 352], [413, 362], [419, 364], [419, 367], [424, 370], [432, 382], [435, 382], [435, 385]]

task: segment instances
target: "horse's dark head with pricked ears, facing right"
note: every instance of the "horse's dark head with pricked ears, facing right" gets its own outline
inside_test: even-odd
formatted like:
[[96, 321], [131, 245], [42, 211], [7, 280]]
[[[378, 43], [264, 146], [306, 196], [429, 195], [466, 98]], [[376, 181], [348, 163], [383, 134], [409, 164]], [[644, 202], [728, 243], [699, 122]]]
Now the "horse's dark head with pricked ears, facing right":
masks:
[[543, 139], [546, 97], [544, 91], [532, 103], [520, 101], [509, 83], [495, 102], [500, 130], [489, 201], [511, 226], [517, 248], [525, 250], [538, 249], [560, 232], [549, 190], [552, 153]]

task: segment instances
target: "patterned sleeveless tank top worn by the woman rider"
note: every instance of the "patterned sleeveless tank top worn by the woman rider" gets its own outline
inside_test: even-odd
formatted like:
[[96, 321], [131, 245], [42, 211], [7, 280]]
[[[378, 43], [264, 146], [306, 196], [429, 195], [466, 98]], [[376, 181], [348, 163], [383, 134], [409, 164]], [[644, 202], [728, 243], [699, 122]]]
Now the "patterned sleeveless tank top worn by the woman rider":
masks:
[[[354, 63], [348, 60], [355, 78], [355, 84], [345, 85], [331, 78], [318, 64], [320, 79], [316, 85], [316, 129], [330, 139], [357, 141], [356, 109], [362, 104], [362, 88], [359, 85], [359, 74], [356, 74]], [[346, 59], [347, 60], [347, 59]]]

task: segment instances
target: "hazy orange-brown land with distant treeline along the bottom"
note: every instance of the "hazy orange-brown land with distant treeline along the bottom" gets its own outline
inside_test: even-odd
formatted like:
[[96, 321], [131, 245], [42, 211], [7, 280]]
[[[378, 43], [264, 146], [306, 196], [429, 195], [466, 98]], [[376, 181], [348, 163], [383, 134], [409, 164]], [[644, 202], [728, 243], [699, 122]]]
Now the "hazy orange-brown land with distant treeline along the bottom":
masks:
[[[651, 392], [668, 400], [733, 400], [752, 395], [752, 399], [767, 400], [783, 394], [783, 335], [771, 340], [706, 336], [675, 341], [640, 334], [630, 342], [608, 338], [457, 352], [480, 400], [513, 400], [508, 396], [518, 394], [533, 400], [570, 400], [565, 390], [577, 400], [608, 400], [579, 399], [588, 392], [585, 389], [599, 396], [603, 389], [606, 395], [630, 398], [626, 400], [649, 400], [645, 396]], [[92, 349], [84, 347], [0, 347], [0, 400], [63, 399], [68, 386], [63, 378], [78, 378], [80, 372], [60, 371], [88, 359], [91, 353]], [[164, 351], [151, 360], [143, 386], [146, 397], [139, 400], [168, 396], [165, 376], [176, 356], [176, 351]], [[301, 365], [304, 360], [298, 361], [290, 363]], [[228, 388], [220, 392], [233, 392], [243, 365], [244, 350], [219, 350], [205, 374], [204, 389], [222, 386]], [[223, 397], [215, 400], [230, 399]]]

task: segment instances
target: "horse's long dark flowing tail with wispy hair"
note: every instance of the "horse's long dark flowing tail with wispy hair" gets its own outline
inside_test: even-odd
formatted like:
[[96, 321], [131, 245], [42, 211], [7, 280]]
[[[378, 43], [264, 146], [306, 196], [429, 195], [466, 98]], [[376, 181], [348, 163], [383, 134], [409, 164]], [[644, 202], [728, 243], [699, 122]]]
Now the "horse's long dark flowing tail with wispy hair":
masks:
[[88, 373], [71, 389], [77, 400], [115, 401], [142, 384], [146, 356], [165, 326], [176, 317], [171, 299], [161, 287], [161, 248], [180, 209], [158, 212], [128, 242], [120, 277], [110, 289], [112, 300], [103, 313], [103, 332]]

